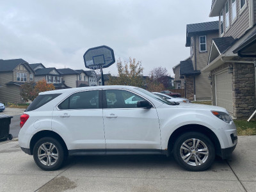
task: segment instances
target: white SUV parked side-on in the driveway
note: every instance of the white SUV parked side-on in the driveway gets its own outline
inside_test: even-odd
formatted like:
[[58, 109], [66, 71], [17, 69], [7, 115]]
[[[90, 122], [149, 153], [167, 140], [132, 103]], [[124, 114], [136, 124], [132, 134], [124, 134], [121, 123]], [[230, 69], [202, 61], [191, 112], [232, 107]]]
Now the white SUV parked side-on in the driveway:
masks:
[[[125, 100], [136, 97], [136, 102]], [[69, 156], [173, 153], [189, 171], [227, 158], [237, 131], [224, 108], [179, 105], [133, 86], [40, 93], [20, 116], [19, 145], [43, 170]]]

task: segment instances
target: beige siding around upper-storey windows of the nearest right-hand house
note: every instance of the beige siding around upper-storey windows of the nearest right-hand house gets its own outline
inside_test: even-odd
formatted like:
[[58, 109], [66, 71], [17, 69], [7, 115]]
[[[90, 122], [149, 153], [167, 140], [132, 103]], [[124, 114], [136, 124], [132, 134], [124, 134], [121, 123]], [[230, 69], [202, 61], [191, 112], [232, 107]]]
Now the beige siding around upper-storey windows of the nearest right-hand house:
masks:
[[[232, 6], [229, 6], [229, 28], [227, 29], [227, 31], [225, 30], [225, 7], [223, 7], [223, 28], [224, 28], [224, 35], [223, 36], [232, 36], [233, 38], [239, 38], [241, 37], [244, 32], [246, 31], [246, 29], [248, 29], [249, 27], [249, 1], [250, 0], [246, 0], [247, 4], [246, 4], [246, 8], [243, 12], [240, 12], [240, 1], [237, 0], [237, 19], [234, 21], [234, 23], [232, 24]], [[255, 3], [255, 1], [254, 1]], [[232, 1], [229, 0], [229, 5], [232, 5]], [[219, 17], [220, 19], [220, 17]], [[221, 31], [220, 31], [221, 33]], [[221, 34], [220, 34], [221, 35]]]

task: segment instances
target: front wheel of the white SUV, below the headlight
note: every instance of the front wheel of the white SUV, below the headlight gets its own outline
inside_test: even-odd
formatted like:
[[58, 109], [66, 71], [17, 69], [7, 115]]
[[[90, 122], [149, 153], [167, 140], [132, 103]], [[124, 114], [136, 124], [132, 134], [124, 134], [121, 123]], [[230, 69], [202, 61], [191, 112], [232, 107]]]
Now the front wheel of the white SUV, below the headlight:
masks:
[[[193, 143], [195, 144], [193, 145]], [[175, 141], [173, 156], [177, 163], [186, 170], [201, 172], [207, 170], [214, 162], [215, 148], [212, 141], [204, 134], [200, 132], [186, 132]], [[186, 163], [186, 161], [188, 162]]]

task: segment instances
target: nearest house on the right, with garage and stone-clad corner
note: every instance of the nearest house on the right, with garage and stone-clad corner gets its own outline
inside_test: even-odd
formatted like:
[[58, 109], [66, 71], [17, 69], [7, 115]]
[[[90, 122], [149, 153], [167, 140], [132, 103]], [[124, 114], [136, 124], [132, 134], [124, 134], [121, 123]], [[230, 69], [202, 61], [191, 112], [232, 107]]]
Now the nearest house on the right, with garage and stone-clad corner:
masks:
[[255, 110], [256, 1], [214, 0], [210, 17], [220, 20], [202, 70], [211, 73], [212, 103], [247, 118]]

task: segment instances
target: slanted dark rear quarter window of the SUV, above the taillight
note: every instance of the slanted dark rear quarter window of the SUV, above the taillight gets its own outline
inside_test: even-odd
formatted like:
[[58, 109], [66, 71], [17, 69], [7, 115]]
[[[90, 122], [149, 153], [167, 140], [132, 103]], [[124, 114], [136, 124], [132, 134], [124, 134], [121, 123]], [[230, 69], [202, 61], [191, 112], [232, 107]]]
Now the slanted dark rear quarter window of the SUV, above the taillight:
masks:
[[33, 111], [35, 109], [38, 109], [38, 108], [44, 106], [45, 104], [47, 104], [47, 102], [50, 102], [52, 99], [55, 99], [59, 95], [61, 95], [61, 93], [39, 95], [38, 97], [36, 97], [36, 99], [33, 102], [31, 102], [31, 104], [28, 106], [26, 111]]

